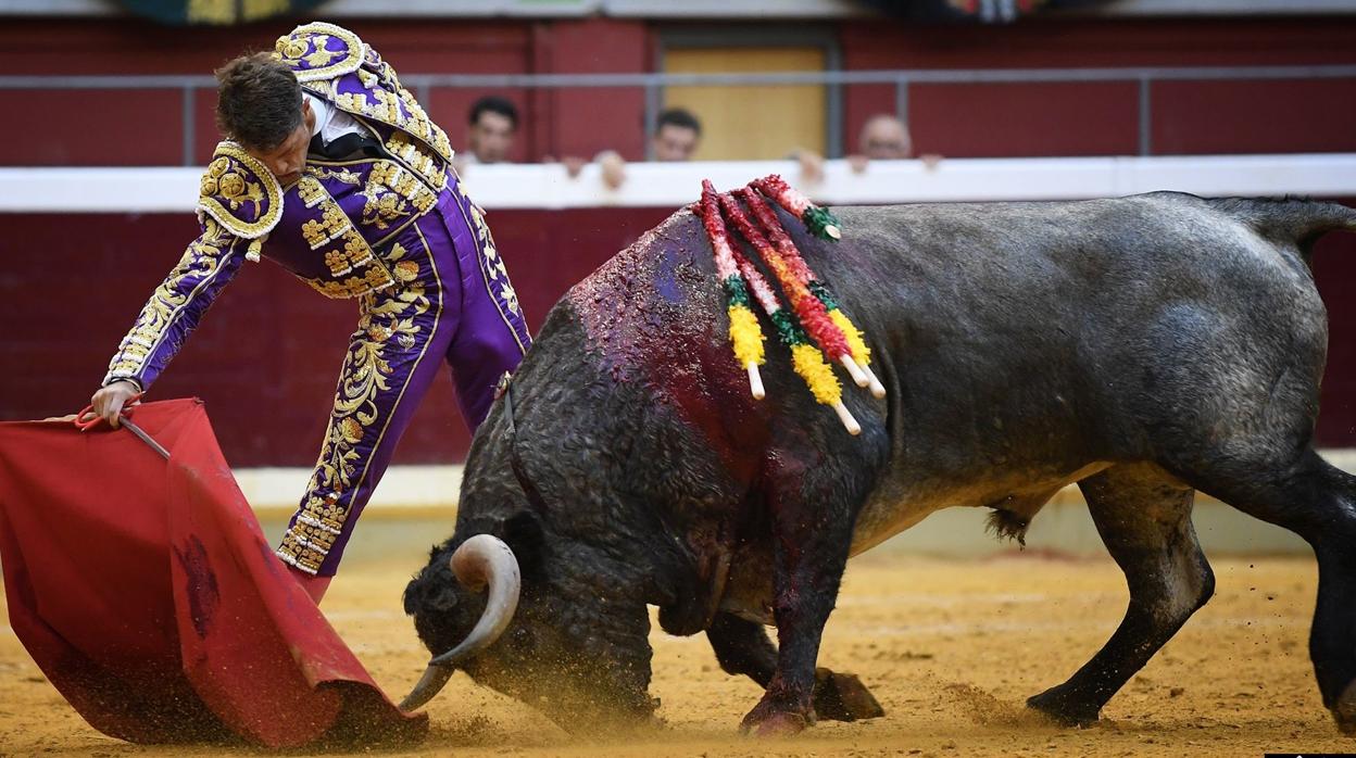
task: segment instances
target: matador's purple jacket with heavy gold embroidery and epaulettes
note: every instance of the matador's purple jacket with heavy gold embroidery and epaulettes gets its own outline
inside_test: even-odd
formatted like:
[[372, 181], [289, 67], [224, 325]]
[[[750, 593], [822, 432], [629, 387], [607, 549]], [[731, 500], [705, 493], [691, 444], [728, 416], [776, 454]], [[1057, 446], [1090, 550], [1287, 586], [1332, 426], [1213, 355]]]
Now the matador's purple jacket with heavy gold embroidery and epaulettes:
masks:
[[202, 235], [141, 309], [103, 384], [149, 388], [244, 260], [270, 258], [328, 297], [401, 281], [407, 273], [384, 258], [388, 241], [458, 188], [447, 136], [358, 35], [309, 23], [278, 38], [274, 54], [306, 92], [376, 134], [382, 156], [311, 159], [283, 187], [240, 145], [218, 144], [199, 186]]

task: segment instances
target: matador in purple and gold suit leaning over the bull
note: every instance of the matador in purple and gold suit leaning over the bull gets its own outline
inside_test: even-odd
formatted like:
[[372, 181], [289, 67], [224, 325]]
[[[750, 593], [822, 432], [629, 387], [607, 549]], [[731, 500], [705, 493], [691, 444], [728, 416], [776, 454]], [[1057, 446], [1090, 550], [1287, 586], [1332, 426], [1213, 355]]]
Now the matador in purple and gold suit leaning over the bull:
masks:
[[354, 33], [308, 23], [217, 72], [201, 236], [155, 290], [94, 396], [117, 424], [248, 260], [358, 300], [334, 411], [278, 556], [317, 601], [439, 365], [472, 428], [530, 336], [447, 136]]

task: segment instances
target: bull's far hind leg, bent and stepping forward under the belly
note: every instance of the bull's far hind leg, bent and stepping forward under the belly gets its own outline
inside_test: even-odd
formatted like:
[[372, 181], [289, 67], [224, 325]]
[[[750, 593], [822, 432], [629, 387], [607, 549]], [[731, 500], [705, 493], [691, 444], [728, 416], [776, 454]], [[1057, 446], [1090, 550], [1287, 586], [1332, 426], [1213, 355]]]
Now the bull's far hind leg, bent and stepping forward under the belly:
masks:
[[1192, 529], [1189, 487], [1149, 464], [1115, 466], [1079, 487], [1106, 549], [1125, 572], [1130, 607], [1092, 660], [1026, 701], [1064, 724], [1096, 721], [1102, 705], [1215, 590]]

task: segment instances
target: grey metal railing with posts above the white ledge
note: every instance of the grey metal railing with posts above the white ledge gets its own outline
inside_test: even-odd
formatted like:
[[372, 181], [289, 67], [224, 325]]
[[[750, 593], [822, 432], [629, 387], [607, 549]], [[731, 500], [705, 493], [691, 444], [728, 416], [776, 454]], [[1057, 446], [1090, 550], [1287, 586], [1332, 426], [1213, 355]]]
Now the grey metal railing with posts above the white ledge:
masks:
[[[1153, 152], [1153, 84], [1158, 81], [1261, 81], [1306, 79], [1356, 79], [1356, 65], [1300, 66], [1143, 66], [1143, 68], [1041, 68], [1041, 69], [894, 69], [814, 71], [777, 73], [415, 73], [401, 83], [428, 110], [435, 88], [449, 89], [576, 89], [640, 88], [644, 91], [645, 129], [652, 132], [666, 87], [803, 87], [830, 88], [854, 84], [888, 84], [895, 88], [895, 113], [909, 121], [909, 88], [929, 84], [1073, 84], [1130, 81], [1139, 88], [1139, 155]], [[0, 89], [176, 89], [182, 94], [183, 165], [193, 165], [198, 89], [216, 89], [212, 76], [0, 76]], [[834, 102], [831, 98], [830, 102]], [[841, 102], [841, 99], [838, 100]]]

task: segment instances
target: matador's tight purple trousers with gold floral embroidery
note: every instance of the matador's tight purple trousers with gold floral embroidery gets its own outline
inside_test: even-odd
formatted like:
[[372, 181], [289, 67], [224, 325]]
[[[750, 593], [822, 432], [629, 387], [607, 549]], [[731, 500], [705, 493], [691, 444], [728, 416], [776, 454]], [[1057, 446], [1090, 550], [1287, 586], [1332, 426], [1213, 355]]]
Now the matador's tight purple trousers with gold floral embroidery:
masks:
[[[389, 243], [388, 243], [389, 244]], [[324, 445], [278, 556], [334, 576], [363, 506], [442, 365], [475, 430], [532, 338], [479, 210], [449, 182], [382, 256], [393, 286], [361, 298]]]

